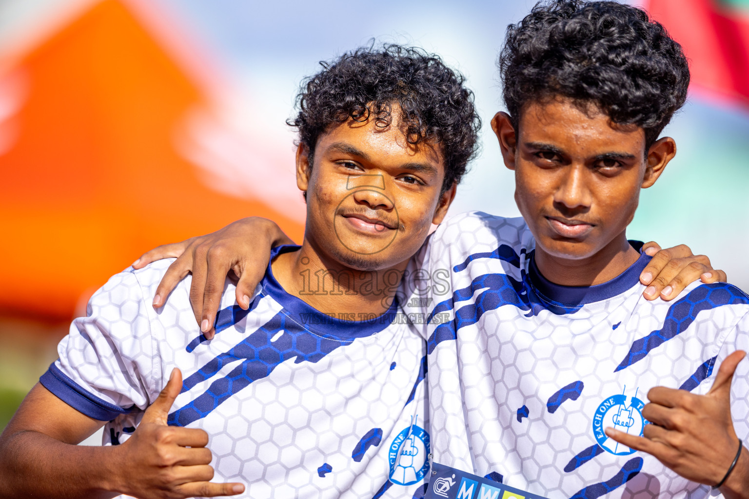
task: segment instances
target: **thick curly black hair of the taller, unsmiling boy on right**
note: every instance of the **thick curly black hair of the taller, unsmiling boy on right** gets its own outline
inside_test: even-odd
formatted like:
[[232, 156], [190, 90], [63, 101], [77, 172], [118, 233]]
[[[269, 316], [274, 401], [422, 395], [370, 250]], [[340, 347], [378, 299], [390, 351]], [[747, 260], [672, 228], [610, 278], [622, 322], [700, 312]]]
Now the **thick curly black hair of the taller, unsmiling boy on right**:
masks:
[[646, 150], [684, 105], [689, 85], [679, 43], [644, 10], [616, 1], [539, 1], [507, 27], [497, 65], [515, 130], [525, 104], [562, 96], [640, 126]]

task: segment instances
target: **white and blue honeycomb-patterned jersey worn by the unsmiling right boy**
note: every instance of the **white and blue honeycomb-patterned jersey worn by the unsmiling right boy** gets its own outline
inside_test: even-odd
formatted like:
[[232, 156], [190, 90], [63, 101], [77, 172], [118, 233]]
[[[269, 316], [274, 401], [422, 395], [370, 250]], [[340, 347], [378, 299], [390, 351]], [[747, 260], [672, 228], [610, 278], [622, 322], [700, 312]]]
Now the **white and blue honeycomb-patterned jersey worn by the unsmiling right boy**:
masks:
[[[447, 292], [419, 282], [404, 300], [430, 322], [434, 462], [552, 499], [707, 497], [604, 429], [640, 435], [655, 386], [706, 393], [721, 361], [749, 350], [748, 296], [696, 282], [647, 301], [645, 254], [607, 283], [562, 287], [539, 274], [534, 246], [522, 218], [469, 213], [442, 224], [410, 268], [421, 281], [449, 275]], [[742, 439], [748, 373], [743, 361], [732, 385]]]

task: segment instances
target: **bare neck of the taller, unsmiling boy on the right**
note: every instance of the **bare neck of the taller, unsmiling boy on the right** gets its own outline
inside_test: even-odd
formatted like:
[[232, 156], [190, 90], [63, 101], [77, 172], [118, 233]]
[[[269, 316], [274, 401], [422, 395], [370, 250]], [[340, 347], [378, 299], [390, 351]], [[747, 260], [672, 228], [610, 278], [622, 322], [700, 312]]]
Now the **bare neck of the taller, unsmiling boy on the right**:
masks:
[[590, 257], [571, 259], [549, 254], [536, 245], [536, 266], [539, 272], [560, 286], [595, 286], [616, 278], [628, 269], [640, 254], [621, 233], [601, 251]]

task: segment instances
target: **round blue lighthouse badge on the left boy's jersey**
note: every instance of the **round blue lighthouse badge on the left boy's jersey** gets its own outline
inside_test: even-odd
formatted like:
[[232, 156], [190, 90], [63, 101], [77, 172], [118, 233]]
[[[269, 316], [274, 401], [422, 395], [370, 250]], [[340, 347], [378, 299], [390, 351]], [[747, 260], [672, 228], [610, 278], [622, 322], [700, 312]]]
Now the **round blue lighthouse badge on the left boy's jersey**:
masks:
[[398, 485], [419, 483], [429, 471], [429, 434], [415, 422], [390, 444], [390, 481]]

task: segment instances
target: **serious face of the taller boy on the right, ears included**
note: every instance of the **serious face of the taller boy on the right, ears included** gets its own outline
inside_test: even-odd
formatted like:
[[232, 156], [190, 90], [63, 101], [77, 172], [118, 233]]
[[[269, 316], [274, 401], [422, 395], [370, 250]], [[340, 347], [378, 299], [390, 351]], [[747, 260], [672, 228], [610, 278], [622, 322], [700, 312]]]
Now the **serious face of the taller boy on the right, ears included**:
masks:
[[515, 201], [537, 247], [564, 260], [620, 244], [640, 189], [652, 186], [676, 154], [671, 138], [645, 154], [642, 128], [618, 126], [562, 98], [526, 105], [517, 138], [505, 113], [497, 113], [492, 128], [515, 171]]

